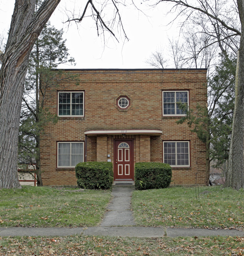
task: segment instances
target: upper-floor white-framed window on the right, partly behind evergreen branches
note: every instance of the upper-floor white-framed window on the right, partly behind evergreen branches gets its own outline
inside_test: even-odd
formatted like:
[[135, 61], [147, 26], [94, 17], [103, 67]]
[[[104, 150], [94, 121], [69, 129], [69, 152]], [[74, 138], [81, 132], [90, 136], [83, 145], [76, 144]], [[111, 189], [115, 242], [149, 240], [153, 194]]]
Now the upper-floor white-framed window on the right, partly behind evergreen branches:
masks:
[[163, 91], [163, 116], [184, 116], [181, 103], [189, 105], [188, 91]]

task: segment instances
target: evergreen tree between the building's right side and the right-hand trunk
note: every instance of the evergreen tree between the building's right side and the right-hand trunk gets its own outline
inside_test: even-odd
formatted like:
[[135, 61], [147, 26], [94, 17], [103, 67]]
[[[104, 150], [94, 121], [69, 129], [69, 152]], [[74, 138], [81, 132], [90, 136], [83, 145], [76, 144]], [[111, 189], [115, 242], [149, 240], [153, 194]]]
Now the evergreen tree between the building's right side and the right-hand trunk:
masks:
[[[221, 59], [215, 75], [208, 79], [208, 106], [185, 109], [186, 116], [178, 123], [187, 122], [200, 140], [206, 143], [206, 179], [209, 184], [210, 162], [219, 167], [228, 160], [235, 101], [236, 58]], [[180, 103], [179, 103], [180, 104]]]

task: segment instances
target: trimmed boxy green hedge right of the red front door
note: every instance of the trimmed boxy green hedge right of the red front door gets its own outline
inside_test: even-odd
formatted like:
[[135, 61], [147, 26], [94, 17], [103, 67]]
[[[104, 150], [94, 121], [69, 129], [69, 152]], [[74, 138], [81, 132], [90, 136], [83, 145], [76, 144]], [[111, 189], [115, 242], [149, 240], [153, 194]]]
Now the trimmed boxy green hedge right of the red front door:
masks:
[[167, 163], [142, 162], [135, 164], [135, 188], [137, 190], [168, 187], [172, 178]]

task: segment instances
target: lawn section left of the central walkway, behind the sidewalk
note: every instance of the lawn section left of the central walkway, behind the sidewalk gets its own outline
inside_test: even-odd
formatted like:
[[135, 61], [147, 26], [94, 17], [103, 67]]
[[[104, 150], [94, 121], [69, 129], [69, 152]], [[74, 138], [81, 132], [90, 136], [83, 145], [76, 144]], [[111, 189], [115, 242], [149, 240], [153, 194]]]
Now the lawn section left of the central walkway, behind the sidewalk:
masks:
[[0, 189], [0, 227], [96, 226], [110, 191], [31, 187]]

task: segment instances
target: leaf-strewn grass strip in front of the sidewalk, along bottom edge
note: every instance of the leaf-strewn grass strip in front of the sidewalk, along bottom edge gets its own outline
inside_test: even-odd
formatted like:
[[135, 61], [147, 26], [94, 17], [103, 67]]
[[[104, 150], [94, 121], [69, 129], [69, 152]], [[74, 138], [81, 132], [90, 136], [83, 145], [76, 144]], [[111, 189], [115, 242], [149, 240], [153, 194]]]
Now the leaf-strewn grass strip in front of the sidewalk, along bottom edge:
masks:
[[0, 238], [0, 255], [141, 256], [243, 255], [244, 238]]

